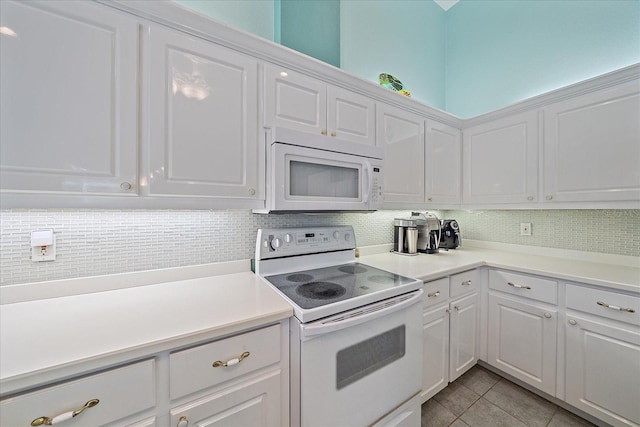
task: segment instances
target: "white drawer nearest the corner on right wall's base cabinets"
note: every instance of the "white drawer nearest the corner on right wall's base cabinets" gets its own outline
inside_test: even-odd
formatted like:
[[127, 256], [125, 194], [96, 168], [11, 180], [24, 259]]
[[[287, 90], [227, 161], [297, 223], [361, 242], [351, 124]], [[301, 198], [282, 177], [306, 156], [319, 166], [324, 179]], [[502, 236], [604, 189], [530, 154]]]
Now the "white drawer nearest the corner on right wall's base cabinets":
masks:
[[558, 282], [555, 280], [491, 270], [489, 272], [489, 289], [549, 304], [558, 303]]

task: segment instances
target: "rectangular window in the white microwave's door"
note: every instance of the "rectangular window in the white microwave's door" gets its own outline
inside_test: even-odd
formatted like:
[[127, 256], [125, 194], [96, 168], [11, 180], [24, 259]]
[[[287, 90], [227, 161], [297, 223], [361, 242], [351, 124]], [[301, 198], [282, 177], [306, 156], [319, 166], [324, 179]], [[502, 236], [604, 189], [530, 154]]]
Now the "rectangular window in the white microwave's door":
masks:
[[289, 159], [289, 196], [295, 198], [360, 199], [360, 165]]

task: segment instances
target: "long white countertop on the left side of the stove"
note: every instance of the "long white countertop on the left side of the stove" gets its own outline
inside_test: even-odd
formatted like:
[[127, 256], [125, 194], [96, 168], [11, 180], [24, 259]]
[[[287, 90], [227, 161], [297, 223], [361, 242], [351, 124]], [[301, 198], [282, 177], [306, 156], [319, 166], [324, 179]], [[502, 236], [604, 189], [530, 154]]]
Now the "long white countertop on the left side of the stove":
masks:
[[291, 306], [251, 272], [0, 306], [7, 394], [286, 319]]

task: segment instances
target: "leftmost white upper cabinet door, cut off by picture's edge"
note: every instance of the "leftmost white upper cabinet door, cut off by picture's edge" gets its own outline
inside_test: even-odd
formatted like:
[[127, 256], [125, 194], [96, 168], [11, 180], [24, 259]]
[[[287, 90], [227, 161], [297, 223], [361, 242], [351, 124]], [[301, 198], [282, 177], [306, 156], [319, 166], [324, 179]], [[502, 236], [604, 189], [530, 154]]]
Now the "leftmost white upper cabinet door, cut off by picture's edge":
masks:
[[136, 192], [138, 24], [111, 10], [0, 2], [3, 190]]

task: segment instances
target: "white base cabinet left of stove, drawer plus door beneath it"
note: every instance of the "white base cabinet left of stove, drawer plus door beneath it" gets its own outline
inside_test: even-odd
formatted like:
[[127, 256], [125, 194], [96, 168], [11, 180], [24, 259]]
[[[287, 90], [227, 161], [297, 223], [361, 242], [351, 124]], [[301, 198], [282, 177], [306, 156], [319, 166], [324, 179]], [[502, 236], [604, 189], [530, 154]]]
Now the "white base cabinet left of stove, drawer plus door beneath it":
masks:
[[171, 354], [171, 398], [206, 393], [175, 406], [171, 425], [287, 425], [280, 342], [275, 325]]

